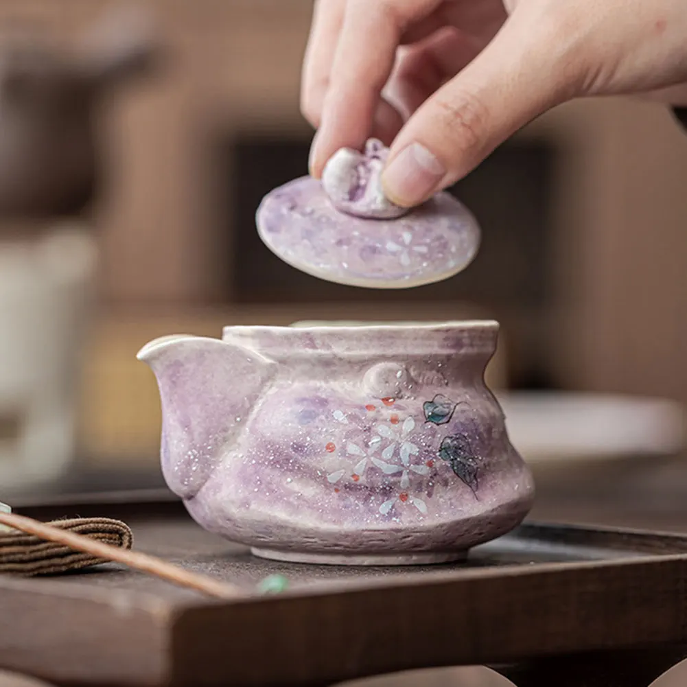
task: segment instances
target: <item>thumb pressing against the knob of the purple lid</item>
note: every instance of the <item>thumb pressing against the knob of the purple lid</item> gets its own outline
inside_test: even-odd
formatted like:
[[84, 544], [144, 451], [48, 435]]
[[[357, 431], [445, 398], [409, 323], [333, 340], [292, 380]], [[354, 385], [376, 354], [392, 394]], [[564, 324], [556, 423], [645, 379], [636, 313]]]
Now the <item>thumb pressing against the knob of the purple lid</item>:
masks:
[[546, 23], [515, 12], [482, 53], [412, 115], [382, 174], [391, 201], [423, 203], [572, 94], [575, 70], [565, 59], [565, 41]]

